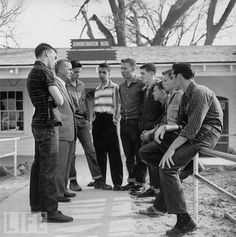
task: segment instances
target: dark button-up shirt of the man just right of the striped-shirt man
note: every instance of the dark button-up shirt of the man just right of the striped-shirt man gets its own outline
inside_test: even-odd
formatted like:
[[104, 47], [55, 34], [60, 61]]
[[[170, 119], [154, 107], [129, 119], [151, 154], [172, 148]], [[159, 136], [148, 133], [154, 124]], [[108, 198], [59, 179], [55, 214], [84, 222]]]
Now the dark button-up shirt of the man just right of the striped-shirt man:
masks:
[[139, 120], [142, 114], [143, 87], [142, 80], [134, 78], [128, 85], [124, 81], [119, 87], [121, 98], [121, 118]]

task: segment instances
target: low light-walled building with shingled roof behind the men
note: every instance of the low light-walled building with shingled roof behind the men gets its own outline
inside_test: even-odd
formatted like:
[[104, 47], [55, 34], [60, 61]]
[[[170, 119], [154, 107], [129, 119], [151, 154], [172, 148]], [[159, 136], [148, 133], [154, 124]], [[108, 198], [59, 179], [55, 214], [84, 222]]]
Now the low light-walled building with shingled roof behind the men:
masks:
[[[111, 78], [120, 84], [120, 60], [131, 57], [138, 66], [153, 62], [157, 76], [170, 68], [173, 62], [190, 62], [195, 70], [197, 83], [215, 91], [224, 110], [225, 134], [236, 134], [236, 46], [185, 46], [185, 47], [113, 47], [116, 59], [111, 64]], [[58, 58], [66, 58], [69, 49], [57, 49]], [[30, 102], [26, 78], [34, 64], [34, 49], [0, 49], [0, 138], [21, 137], [19, 155], [33, 154], [31, 119], [33, 106]], [[98, 85], [97, 65], [103, 61], [81, 61], [81, 80], [92, 102], [93, 91]], [[136, 75], [139, 76], [137, 67]], [[229, 142], [228, 142], [229, 140]], [[235, 147], [235, 136], [224, 136], [221, 146], [229, 143]], [[9, 145], [10, 146], [10, 145]], [[0, 151], [9, 149], [0, 143]], [[225, 148], [223, 148], [225, 150]], [[227, 150], [227, 148], [226, 148]]]

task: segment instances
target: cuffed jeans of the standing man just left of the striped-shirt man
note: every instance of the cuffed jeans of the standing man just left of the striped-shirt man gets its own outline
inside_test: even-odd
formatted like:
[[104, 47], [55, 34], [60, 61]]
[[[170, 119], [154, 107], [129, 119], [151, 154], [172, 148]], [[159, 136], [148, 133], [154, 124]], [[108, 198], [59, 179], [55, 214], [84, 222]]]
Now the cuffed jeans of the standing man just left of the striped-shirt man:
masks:
[[[101, 178], [102, 174], [97, 162], [97, 156], [96, 156], [95, 148], [93, 146], [92, 137], [91, 137], [89, 129], [86, 127], [82, 128], [82, 127], [76, 126], [76, 130], [77, 130], [76, 131], [77, 137], [84, 149], [84, 153], [88, 162], [88, 167], [92, 175], [92, 178], [94, 180]], [[76, 179], [76, 176], [77, 176], [76, 169], [75, 169], [75, 158], [76, 156], [74, 152], [72, 161], [71, 161], [71, 168], [70, 168], [70, 175], [69, 175], [70, 180]]]

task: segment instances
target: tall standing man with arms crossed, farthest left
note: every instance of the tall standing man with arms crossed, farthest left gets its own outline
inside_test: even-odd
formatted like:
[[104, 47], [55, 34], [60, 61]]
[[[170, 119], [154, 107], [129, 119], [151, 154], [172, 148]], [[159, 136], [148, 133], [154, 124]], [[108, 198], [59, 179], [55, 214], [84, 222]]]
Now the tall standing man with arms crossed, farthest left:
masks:
[[[35, 108], [32, 132], [35, 139], [34, 162], [30, 174], [32, 212], [44, 212], [45, 221], [70, 222], [73, 218], [57, 210], [55, 170], [59, 152], [60, 112], [63, 104], [52, 70], [57, 51], [49, 44], [35, 48], [36, 61], [27, 78], [27, 89]], [[43, 215], [43, 214], [42, 214]]]

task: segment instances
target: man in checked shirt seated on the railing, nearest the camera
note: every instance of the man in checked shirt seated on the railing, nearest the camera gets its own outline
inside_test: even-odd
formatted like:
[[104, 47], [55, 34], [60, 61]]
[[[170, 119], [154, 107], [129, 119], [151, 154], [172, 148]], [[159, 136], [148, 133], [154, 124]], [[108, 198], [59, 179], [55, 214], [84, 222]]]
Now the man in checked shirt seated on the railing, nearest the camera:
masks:
[[[194, 82], [194, 72], [189, 63], [173, 64], [172, 69], [175, 89], [184, 91], [179, 119], [187, 122], [164, 156], [160, 149], [157, 159], [161, 160], [161, 188], [151, 208], [159, 215], [165, 212], [176, 214], [177, 223], [166, 235], [182, 236], [196, 230], [197, 224], [187, 212], [178, 172], [193, 159], [201, 147], [215, 147], [222, 133], [223, 112], [214, 92]], [[156, 142], [165, 144], [166, 131], [155, 134]]]

